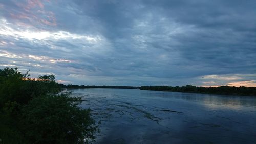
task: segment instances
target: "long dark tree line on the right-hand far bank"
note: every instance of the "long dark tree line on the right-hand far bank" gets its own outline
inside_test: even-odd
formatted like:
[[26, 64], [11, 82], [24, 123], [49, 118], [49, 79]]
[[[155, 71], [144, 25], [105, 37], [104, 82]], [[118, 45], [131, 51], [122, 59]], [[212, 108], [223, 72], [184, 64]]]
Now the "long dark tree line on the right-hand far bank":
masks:
[[191, 85], [186, 86], [141, 86], [140, 90], [153, 91], [172, 91], [172, 92], [188, 92], [188, 93], [206, 93], [206, 94], [222, 94], [222, 95], [247, 95], [256, 96], [256, 87], [196, 87]]

